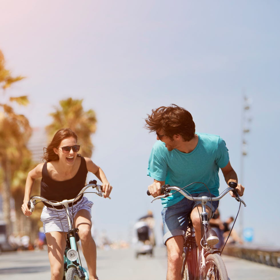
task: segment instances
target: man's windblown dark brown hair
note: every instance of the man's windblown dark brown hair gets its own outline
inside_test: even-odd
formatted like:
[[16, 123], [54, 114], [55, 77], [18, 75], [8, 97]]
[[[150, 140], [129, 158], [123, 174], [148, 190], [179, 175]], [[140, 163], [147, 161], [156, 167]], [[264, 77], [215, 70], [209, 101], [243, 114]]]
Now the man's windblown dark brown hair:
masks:
[[162, 130], [164, 135], [173, 138], [173, 135], [181, 135], [185, 141], [193, 139], [195, 123], [189, 111], [171, 104], [168, 107], [161, 106], [153, 109], [151, 115], [147, 114], [145, 128], [150, 132]]

